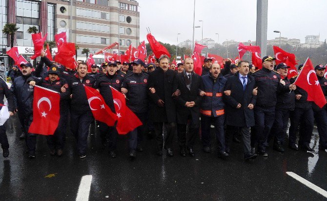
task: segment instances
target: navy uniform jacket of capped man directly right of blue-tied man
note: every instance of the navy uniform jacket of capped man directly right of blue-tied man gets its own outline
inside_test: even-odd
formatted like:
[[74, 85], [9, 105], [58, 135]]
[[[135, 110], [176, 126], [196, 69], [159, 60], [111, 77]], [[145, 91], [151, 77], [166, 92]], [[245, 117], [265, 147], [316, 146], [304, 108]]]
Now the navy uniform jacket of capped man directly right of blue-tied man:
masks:
[[288, 86], [284, 86], [279, 81], [281, 77], [278, 73], [267, 68], [262, 68], [252, 74], [258, 87], [256, 105], [263, 108], [276, 106], [277, 91], [289, 92]]

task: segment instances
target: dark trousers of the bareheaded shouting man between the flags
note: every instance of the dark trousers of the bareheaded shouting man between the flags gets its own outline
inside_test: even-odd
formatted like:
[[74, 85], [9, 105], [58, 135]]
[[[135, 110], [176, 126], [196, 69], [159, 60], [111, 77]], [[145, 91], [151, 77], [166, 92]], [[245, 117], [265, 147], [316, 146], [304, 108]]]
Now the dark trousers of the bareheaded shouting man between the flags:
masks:
[[91, 121], [91, 111], [70, 111], [70, 129], [77, 140], [77, 150], [79, 153], [86, 152]]

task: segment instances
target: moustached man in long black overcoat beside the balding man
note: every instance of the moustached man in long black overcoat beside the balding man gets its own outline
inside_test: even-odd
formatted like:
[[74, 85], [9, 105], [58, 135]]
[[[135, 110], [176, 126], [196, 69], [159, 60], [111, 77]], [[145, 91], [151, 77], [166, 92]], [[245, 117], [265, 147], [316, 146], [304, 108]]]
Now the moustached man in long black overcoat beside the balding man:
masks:
[[159, 58], [159, 68], [149, 74], [148, 87], [154, 88], [155, 93], [149, 96], [154, 105], [151, 107], [150, 116], [154, 123], [157, 155], [163, 155], [163, 124], [167, 131], [165, 138], [165, 149], [167, 155], [174, 156], [172, 151], [173, 137], [176, 127], [176, 108], [172, 94], [176, 89], [173, 88], [176, 79], [176, 71], [168, 69], [169, 58], [162, 55]]

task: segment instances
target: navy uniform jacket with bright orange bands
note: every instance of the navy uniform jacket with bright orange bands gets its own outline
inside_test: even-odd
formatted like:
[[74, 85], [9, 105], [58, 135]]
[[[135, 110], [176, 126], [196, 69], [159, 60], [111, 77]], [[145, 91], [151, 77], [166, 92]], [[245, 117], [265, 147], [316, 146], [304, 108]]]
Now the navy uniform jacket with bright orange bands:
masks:
[[201, 114], [205, 116], [221, 116], [225, 114], [223, 93], [227, 79], [222, 74], [213, 79], [210, 74], [202, 76], [202, 90], [206, 95], [202, 99]]

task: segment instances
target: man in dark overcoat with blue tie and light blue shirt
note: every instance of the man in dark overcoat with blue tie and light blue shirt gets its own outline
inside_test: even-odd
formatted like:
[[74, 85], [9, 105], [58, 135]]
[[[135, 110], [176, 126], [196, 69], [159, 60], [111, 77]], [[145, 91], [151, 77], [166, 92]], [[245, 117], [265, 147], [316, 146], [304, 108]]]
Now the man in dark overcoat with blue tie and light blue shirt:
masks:
[[229, 150], [229, 144], [235, 127], [239, 127], [244, 143], [244, 159], [249, 160], [256, 157], [251, 153], [251, 135], [250, 127], [254, 126], [253, 107], [256, 102], [256, 96], [252, 94], [255, 80], [248, 75], [249, 62], [240, 61], [238, 64], [240, 70], [235, 76], [228, 78], [225, 84], [225, 91], [230, 91], [230, 95], [224, 94], [225, 101], [225, 124], [227, 132], [225, 136], [226, 150]]

